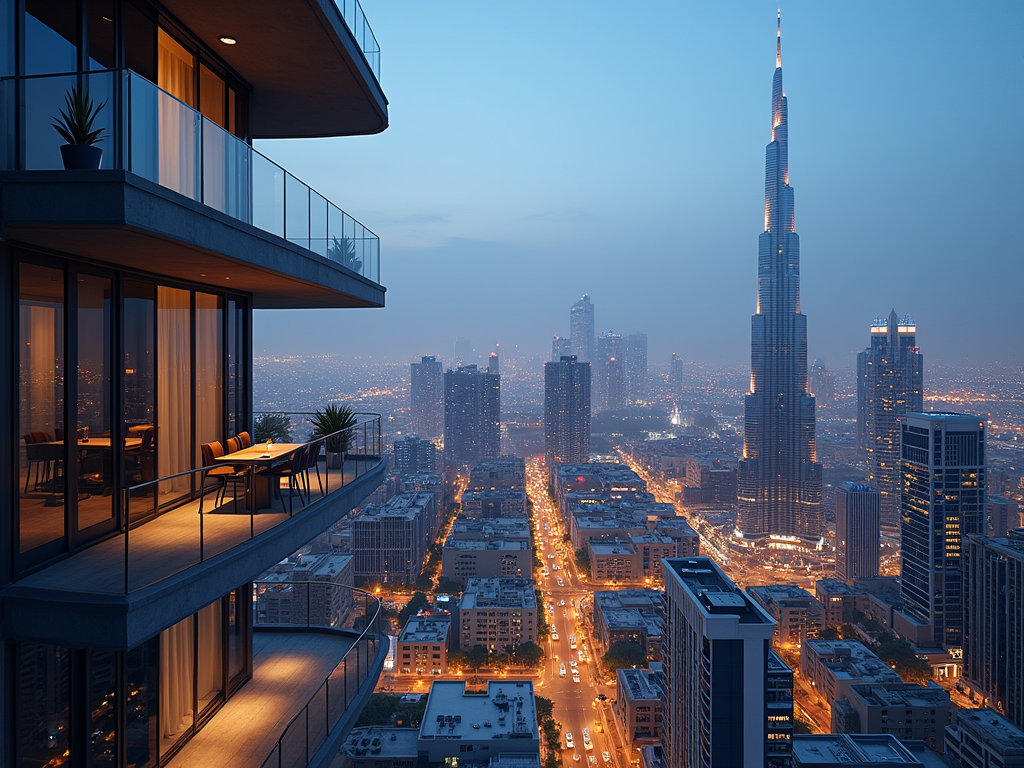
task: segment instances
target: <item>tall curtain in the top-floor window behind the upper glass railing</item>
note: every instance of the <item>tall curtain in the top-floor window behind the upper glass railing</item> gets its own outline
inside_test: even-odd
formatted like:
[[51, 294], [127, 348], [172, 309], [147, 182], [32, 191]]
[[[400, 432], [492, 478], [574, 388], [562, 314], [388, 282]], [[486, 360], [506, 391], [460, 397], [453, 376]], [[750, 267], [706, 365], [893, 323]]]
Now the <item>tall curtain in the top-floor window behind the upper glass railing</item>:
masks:
[[[196, 57], [163, 30], [157, 43], [157, 85], [160, 94], [160, 184], [199, 199], [196, 176], [198, 119]], [[178, 99], [178, 100], [175, 100]]]

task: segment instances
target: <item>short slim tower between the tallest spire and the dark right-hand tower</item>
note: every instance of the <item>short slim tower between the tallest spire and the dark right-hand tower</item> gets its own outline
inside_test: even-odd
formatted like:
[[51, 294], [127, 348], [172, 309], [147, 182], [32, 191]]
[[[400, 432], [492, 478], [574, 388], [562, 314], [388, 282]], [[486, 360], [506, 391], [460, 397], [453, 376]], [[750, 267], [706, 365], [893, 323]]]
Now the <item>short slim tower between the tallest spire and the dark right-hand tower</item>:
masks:
[[844, 482], [836, 492], [836, 575], [846, 582], [879, 574], [877, 489]]

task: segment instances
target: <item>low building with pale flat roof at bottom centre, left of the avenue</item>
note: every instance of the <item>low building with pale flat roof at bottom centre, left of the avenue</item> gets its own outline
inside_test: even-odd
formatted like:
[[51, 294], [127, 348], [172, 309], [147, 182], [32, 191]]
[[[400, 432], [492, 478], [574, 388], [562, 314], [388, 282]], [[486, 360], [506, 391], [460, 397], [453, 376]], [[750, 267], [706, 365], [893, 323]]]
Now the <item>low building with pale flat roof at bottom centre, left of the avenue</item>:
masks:
[[540, 755], [534, 684], [492, 680], [486, 692], [477, 693], [464, 682], [434, 682], [418, 744], [429, 765]]

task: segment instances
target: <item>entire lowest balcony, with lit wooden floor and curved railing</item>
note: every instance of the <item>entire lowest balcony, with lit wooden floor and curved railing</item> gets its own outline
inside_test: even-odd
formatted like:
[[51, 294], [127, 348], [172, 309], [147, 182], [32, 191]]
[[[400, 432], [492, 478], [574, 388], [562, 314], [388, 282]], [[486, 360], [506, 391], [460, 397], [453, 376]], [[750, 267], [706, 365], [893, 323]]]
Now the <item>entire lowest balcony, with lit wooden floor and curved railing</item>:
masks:
[[[379, 599], [324, 582], [256, 582], [254, 596], [253, 678], [170, 768], [326, 765], [377, 684], [387, 654]], [[266, 603], [290, 615], [271, 621]]]

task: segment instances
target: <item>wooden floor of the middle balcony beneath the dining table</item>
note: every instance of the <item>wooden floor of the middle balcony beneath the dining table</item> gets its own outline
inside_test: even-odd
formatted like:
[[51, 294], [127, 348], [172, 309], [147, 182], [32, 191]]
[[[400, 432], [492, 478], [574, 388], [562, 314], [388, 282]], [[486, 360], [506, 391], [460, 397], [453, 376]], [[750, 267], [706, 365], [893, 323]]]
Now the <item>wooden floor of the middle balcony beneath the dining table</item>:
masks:
[[[349, 463], [345, 467], [344, 484], [355, 478]], [[324, 467], [321, 467], [324, 472]], [[360, 475], [361, 475], [360, 471]], [[341, 470], [329, 470], [329, 492], [339, 489]], [[321, 499], [315, 475], [312, 478], [313, 503]], [[206, 496], [203, 515], [199, 515], [199, 501], [189, 502], [154, 520], [132, 528], [128, 532], [128, 588], [142, 589], [162, 579], [173, 575], [203, 560], [226, 552], [252, 536], [288, 519], [282, 512], [282, 500], [272, 507], [260, 509], [250, 515], [240, 497], [238, 508], [228, 497], [225, 504], [215, 507], [215, 494]], [[287, 483], [283, 492], [285, 508], [288, 506]], [[301, 501], [294, 499], [295, 514], [300, 513]], [[133, 513], [134, 514], [134, 513]], [[200, 527], [202, 523], [202, 529]], [[202, 538], [201, 538], [202, 534]], [[200, 543], [202, 539], [202, 559]], [[112, 537], [92, 547], [87, 547], [71, 557], [26, 577], [18, 582], [25, 587], [53, 589], [65, 592], [90, 594], [124, 594], [125, 591], [125, 539], [124, 534]]]

